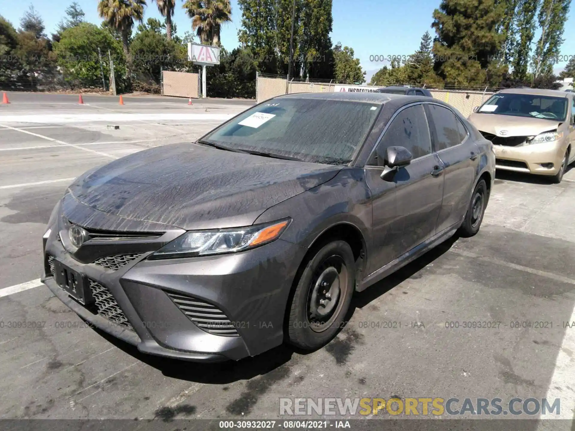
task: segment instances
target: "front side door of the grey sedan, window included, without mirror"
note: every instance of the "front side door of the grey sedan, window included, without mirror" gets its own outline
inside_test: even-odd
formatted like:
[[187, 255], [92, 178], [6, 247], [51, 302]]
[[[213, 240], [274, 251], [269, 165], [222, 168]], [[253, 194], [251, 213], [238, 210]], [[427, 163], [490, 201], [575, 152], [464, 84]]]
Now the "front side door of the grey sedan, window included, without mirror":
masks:
[[407, 148], [413, 158], [392, 182], [379, 175], [374, 154], [365, 166], [373, 199], [373, 252], [370, 272], [408, 252], [435, 234], [443, 195], [442, 163], [432, 152], [430, 131], [421, 104], [402, 109], [378, 144]]

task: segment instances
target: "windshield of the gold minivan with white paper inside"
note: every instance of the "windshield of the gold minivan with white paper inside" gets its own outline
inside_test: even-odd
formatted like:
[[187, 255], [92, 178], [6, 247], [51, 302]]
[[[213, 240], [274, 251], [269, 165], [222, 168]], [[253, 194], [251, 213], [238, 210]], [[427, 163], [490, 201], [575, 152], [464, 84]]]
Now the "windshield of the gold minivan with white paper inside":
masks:
[[477, 112], [565, 121], [567, 99], [538, 94], [500, 93], [493, 95]]

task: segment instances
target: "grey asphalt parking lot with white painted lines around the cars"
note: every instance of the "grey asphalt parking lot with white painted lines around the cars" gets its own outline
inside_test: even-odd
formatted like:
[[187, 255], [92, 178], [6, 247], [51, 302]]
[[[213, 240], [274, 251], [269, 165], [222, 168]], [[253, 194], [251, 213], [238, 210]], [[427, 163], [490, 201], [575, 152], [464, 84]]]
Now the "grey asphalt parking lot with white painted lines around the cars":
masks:
[[[326, 348], [186, 363], [84, 328], [37, 282], [41, 237], [76, 176], [193, 140], [254, 102], [9, 98], [0, 105], [0, 418], [284, 419], [282, 397], [561, 398], [561, 418], [573, 418], [575, 325], [565, 322], [575, 321], [575, 168], [561, 184], [498, 174], [480, 233], [451, 238], [356, 294]], [[27, 321], [46, 323], [7, 324]], [[462, 328], [467, 321], [500, 324]], [[558, 429], [549, 426], [531, 429]]]

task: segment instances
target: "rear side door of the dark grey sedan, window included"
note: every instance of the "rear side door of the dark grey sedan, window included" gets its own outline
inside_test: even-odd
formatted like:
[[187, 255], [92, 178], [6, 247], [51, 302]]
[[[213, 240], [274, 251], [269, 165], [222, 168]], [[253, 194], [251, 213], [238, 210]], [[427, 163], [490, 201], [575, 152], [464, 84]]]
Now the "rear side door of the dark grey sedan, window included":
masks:
[[441, 211], [436, 232], [462, 220], [469, 204], [480, 162], [479, 148], [471, 142], [465, 125], [447, 107], [425, 103], [432, 147], [444, 166]]

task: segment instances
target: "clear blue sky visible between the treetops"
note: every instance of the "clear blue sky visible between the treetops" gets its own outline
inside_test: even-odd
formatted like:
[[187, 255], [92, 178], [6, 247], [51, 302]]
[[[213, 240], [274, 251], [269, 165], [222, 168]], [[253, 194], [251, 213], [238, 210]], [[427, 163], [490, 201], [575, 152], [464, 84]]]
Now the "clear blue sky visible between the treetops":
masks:
[[[97, 0], [76, 0], [86, 13], [86, 21], [99, 24]], [[0, 14], [11, 21], [14, 26], [20, 24], [20, 18], [30, 4], [34, 5], [44, 19], [47, 33], [56, 29], [57, 23], [64, 16], [64, 10], [72, 0], [32, 0], [17, 2], [0, 0]], [[363, 70], [367, 71], [367, 81], [385, 63], [370, 61], [372, 55], [409, 55], [418, 47], [421, 35], [431, 29], [431, 14], [439, 6], [440, 0], [333, 0], [333, 43], [340, 41], [354, 49], [355, 56], [361, 60]], [[144, 20], [148, 17], [160, 18], [156, 3], [147, 0]], [[233, 49], [239, 44], [237, 30], [241, 24], [241, 11], [237, 0], [231, 0], [233, 22], [224, 25], [221, 41], [226, 49]], [[177, 0], [174, 21], [181, 36], [191, 30], [189, 18], [182, 9], [183, 0]], [[15, 6], [17, 5], [17, 6]], [[571, 8], [569, 20], [565, 25], [565, 42], [561, 55], [575, 55], [575, 6]], [[535, 40], [539, 33], [535, 35]], [[559, 63], [555, 71], [565, 66], [566, 61]]]

